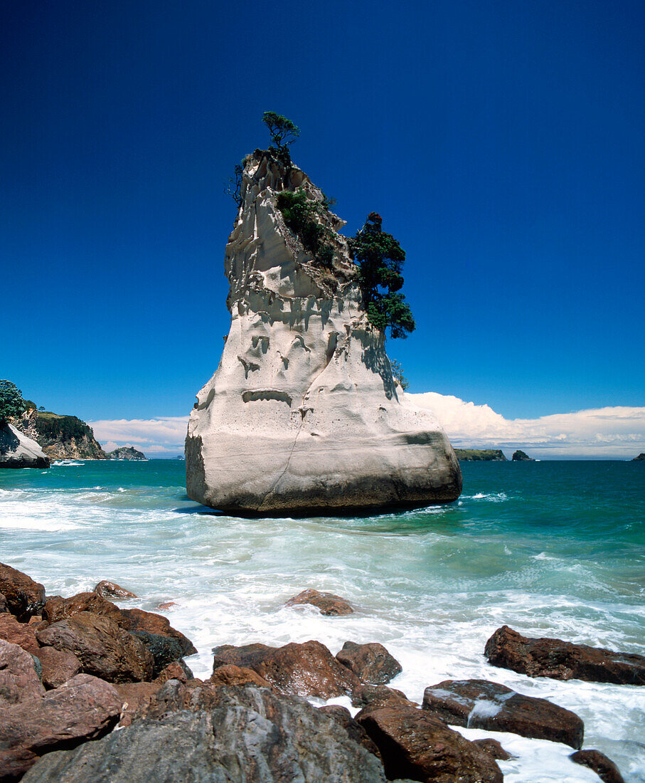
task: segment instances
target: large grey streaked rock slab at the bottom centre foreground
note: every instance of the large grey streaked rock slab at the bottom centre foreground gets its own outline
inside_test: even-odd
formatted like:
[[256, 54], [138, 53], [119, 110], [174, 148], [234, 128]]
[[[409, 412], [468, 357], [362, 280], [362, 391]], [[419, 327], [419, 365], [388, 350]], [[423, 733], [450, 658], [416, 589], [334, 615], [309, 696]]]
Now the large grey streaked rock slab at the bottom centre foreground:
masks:
[[99, 742], [50, 753], [24, 783], [385, 783], [378, 759], [304, 700], [267, 689], [216, 692], [213, 709], [138, 720]]

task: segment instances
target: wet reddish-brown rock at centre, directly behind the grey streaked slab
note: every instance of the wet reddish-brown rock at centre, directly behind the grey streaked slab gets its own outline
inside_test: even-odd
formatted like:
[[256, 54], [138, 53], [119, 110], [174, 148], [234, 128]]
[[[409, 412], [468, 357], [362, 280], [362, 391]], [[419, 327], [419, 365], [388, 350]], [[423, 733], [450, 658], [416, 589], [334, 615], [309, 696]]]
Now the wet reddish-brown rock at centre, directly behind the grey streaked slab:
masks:
[[319, 641], [267, 647], [224, 644], [213, 650], [213, 673], [225, 663], [244, 666], [268, 680], [278, 693], [333, 698], [351, 693], [358, 677], [342, 666]]

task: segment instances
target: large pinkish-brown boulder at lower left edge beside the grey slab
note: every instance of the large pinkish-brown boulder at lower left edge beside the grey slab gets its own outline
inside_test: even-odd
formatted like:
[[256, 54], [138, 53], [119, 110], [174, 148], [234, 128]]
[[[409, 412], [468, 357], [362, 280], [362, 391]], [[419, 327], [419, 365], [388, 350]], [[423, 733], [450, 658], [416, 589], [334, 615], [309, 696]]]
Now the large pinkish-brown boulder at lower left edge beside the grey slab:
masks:
[[114, 688], [88, 674], [77, 674], [55, 691], [3, 709], [0, 781], [18, 778], [44, 753], [101, 737], [116, 723], [120, 709]]

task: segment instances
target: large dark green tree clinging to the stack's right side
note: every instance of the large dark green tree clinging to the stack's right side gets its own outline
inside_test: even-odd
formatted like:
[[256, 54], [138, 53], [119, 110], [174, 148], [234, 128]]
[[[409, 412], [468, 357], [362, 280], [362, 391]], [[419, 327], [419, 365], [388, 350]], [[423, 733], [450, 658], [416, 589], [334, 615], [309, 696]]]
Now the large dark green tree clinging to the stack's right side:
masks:
[[362, 229], [349, 240], [352, 258], [359, 268], [359, 284], [370, 323], [391, 337], [407, 337], [414, 331], [410, 305], [400, 293], [403, 287], [405, 251], [382, 229], [377, 212], [367, 215]]

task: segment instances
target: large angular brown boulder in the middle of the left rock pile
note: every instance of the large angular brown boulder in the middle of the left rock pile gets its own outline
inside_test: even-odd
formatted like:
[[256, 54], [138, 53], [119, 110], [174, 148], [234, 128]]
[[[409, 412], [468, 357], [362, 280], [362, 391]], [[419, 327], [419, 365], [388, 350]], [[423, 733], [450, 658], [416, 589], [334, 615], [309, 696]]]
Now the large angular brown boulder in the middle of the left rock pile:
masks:
[[79, 612], [38, 631], [38, 641], [57, 650], [73, 652], [84, 672], [108, 682], [152, 677], [152, 653], [109, 617]]

